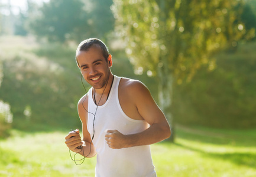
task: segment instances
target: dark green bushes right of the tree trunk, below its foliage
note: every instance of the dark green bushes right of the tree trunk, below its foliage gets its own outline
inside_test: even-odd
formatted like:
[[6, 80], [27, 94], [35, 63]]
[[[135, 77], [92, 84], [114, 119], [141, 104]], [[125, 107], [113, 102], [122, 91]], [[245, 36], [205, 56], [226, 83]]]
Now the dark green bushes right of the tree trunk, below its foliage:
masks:
[[217, 68], [198, 71], [191, 83], [176, 86], [173, 113], [176, 122], [210, 127], [256, 126], [256, 43], [234, 53], [215, 56]]

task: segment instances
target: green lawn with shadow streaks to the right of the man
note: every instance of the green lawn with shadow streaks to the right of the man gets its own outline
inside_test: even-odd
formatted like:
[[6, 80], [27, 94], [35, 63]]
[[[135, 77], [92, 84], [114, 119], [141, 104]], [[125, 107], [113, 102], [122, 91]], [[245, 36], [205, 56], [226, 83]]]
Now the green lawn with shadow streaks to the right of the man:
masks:
[[[247, 136], [244, 136], [247, 135]], [[248, 136], [249, 135], [249, 136]], [[256, 176], [256, 131], [177, 127], [177, 139], [164, 158], [170, 175]], [[168, 148], [168, 146], [166, 145]], [[157, 165], [164, 159], [155, 157]], [[159, 163], [158, 163], [159, 161]], [[167, 163], [167, 162], [166, 162]], [[160, 175], [159, 175], [160, 176]]]

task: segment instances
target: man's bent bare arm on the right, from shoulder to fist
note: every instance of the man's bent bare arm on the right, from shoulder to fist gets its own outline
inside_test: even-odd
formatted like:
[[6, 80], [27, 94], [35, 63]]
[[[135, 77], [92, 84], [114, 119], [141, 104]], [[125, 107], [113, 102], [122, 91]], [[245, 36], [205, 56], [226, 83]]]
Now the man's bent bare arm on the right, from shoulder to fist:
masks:
[[105, 139], [109, 147], [120, 149], [151, 145], [170, 137], [170, 125], [147, 87], [139, 81], [133, 81], [132, 86], [129, 86], [129, 96], [134, 100], [138, 113], [150, 124], [150, 127], [143, 132], [132, 135], [123, 135], [118, 130], [108, 130]]

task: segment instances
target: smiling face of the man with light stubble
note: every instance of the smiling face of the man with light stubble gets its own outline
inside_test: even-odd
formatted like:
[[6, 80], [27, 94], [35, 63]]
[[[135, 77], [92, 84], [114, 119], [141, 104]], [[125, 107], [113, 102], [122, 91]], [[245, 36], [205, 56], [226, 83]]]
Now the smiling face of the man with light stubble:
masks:
[[79, 51], [76, 58], [83, 78], [95, 89], [102, 89], [108, 81], [110, 64], [101, 48], [92, 46], [88, 51]]

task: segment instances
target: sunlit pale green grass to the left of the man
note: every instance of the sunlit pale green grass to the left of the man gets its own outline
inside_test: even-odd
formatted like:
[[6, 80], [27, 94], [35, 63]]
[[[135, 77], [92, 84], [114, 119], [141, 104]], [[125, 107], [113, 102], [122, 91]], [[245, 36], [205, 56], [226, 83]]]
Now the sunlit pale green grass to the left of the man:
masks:
[[13, 132], [2, 140], [0, 176], [93, 176], [95, 159], [86, 159], [81, 166], [70, 160], [64, 144], [65, 133]]

